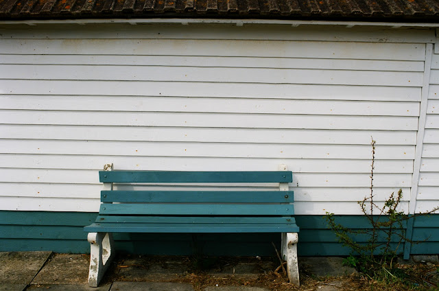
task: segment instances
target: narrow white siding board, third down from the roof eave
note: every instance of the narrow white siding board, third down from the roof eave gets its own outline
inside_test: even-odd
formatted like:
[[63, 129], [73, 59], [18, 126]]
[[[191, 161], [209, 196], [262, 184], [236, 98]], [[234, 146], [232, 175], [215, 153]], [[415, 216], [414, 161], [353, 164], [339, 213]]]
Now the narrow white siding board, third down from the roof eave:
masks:
[[[0, 36], [1, 37], [1, 36]], [[422, 61], [233, 56], [101, 56], [0, 54], [5, 65], [125, 65], [423, 72]]]

